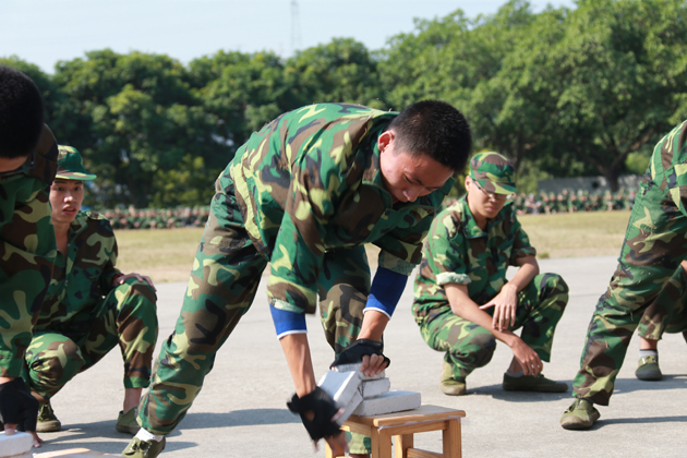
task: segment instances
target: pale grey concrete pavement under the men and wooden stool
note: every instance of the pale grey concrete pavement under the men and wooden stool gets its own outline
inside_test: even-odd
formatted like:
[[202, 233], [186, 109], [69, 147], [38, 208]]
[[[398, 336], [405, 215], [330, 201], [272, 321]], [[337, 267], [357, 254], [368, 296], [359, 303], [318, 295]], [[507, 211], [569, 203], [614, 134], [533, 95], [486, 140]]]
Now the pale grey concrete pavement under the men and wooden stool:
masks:
[[[558, 324], [553, 361], [545, 365], [544, 373], [571, 385], [587, 325], [615, 268], [615, 257], [542, 260], [540, 265], [542, 272], [562, 274], [570, 286], [570, 302]], [[218, 352], [196, 402], [168, 437], [164, 457], [324, 457], [324, 446], [315, 454], [300, 420], [286, 409], [293, 387], [275, 337], [264, 284], [265, 279], [253, 308]], [[173, 327], [184, 289], [184, 284], [158, 287], [158, 349]], [[601, 420], [593, 430], [571, 432], [558, 424], [570, 403], [569, 391], [544, 395], [502, 389], [503, 372], [511, 358], [503, 343], [492, 362], [468, 378], [467, 396], [443, 395], [437, 388], [442, 353], [431, 350], [420, 337], [411, 303], [409, 281], [385, 335], [385, 353], [391, 359], [387, 370], [391, 389], [420, 391], [423, 403], [466, 410], [469, 423], [462, 429], [465, 457], [683, 457], [687, 453], [687, 352], [680, 335], [667, 335], [660, 345], [665, 375], [662, 382], [635, 378], [639, 348], [635, 337], [611, 407], [600, 408]], [[318, 318], [309, 316], [308, 325], [320, 377], [333, 354]], [[117, 350], [76, 376], [52, 400], [63, 431], [43, 434], [46, 442], [37, 451], [87, 447], [119, 454], [131, 437], [114, 431], [123, 399], [121, 379]], [[441, 434], [417, 435], [415, 446], [438, 451]]]

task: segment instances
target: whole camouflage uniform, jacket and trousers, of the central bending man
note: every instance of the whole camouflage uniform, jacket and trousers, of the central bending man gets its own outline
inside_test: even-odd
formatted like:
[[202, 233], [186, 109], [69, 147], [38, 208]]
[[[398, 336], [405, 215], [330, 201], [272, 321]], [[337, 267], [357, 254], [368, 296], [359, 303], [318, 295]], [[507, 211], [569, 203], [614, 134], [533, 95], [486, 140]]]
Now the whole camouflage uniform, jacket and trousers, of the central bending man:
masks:
[[414, 203], [394, 203], [377, 137], [397, 113], [322, 104], [285, 113], [239, 148], [215, 183], [209, 220], [180, 317], [164, 342], [138, 422], [170, 433], [215, 354], [253, 302], [269, 262], [270, 304], [314, 313], [320, 293], [336, 352], [354, 340], [370, 290], [364, 243], [378, 265], [409, 275], [453, 180]]

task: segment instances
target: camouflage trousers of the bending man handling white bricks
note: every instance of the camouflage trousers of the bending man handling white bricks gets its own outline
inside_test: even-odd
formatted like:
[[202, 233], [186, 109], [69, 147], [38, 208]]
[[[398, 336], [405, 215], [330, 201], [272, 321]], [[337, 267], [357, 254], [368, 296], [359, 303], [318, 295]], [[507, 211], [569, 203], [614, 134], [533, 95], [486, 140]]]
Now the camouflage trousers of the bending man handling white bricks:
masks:
[[[217, 351], [253, 303], [266, 266], [267, 258], [243, 227], [233, 193], [218, 190], [181, 313], [162, 342], [150, 389], [140, 405], [138, 423], [145, 430], [169, 434], [183, 419], [213, 369]], [[364, 246], [325, 254], [318, 277], [320, 309], [327, 341], [336, 352], [360, 333], [369, 291]]]

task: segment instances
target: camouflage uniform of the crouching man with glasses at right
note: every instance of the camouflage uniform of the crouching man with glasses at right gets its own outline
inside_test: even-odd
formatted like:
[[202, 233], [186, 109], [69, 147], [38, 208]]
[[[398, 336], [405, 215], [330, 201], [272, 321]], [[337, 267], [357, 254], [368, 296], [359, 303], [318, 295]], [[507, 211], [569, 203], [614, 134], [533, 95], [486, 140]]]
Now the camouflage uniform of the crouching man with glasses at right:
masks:
[[[430, 229], [422, 264], [415, 277], [412, 312], [422, 338], [433, 349], [446, 352], [455, 379], [465, 379], [486, 365], [496, 348], [495, 337], [450, 309], [444, 285], [468, 287], [479, 305], [491, 301], [506, 284], [508, 265], [537, 254], [507, 203], [498, 216], [480, 229], [463, 197], [442, 212]], [[521, 338], [542, 361], [550, 361], [556, 325], [568, 301], [568, 287], [556, 274], [537, 275], [518, 292], [516, 323]], [[485, 312], [493, 315], [493, 309]]]

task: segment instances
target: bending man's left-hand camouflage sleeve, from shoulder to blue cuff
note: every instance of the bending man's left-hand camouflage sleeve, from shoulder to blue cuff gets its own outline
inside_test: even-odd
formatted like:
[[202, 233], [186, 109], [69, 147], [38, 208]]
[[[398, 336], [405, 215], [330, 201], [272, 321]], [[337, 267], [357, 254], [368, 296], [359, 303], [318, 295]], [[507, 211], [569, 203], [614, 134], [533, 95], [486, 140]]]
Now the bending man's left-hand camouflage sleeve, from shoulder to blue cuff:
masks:
[[345, 185], [339, 165], [324, 148], [312, 148], [293, 165], [267, 284], [267, 294], [276, 309], [314, 313], [325, 225]]

